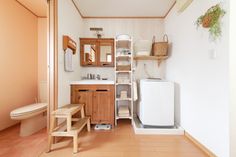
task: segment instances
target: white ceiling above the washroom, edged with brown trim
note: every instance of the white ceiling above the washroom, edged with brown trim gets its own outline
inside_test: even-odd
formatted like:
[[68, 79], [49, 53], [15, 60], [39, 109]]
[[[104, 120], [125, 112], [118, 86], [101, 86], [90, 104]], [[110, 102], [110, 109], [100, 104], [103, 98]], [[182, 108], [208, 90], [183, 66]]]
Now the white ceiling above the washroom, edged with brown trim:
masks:
[[84, 18], [165, 17], [176, 0], [74, 0]]

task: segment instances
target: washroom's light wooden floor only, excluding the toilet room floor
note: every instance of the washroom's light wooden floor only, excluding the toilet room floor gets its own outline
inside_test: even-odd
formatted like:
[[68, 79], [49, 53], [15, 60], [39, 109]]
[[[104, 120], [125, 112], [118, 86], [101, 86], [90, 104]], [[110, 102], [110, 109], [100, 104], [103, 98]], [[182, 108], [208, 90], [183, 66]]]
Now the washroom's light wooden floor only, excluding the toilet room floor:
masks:
[[79, 153], [72, 153], [72, 142], [65, 140], [41, 157], [206, 157], [184, 136], [135, 135], [125, 121], [112, 131], [83, 132]]

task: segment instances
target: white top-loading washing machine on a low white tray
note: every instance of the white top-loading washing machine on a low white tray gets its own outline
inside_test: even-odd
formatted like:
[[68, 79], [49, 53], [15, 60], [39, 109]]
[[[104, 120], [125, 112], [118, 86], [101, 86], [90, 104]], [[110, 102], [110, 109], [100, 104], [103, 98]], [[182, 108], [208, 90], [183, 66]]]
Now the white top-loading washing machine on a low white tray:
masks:
[[174, 83], [160, 79], [140, 80], [137, 107], [144, 126], [174, 126]]

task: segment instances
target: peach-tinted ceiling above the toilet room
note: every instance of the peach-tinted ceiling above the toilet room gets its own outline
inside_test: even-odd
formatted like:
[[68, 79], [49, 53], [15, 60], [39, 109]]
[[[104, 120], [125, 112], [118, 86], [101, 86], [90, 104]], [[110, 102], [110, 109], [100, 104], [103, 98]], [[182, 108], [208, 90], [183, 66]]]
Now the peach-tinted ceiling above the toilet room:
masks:
[[38, 17], [47, 16], [47, 0], [17, 0]]

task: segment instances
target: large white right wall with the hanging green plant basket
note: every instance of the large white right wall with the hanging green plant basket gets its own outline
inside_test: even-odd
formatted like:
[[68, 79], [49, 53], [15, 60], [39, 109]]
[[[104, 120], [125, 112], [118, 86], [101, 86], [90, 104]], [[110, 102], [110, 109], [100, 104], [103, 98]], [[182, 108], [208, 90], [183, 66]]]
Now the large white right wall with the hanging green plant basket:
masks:
[[[197, 18], [218, 0], [198, 0], [183, 12], [176, 8], [165, 21], [171, 41], [166, 77], [177, 83], [181, 126], [219, 157], [229, 156], [229, 49], [228, 1], [223, 18], [222, 38], [211, 42], [207, 30], [196, 29]], [[217, 57], [211, 59], [210, 52]]]

